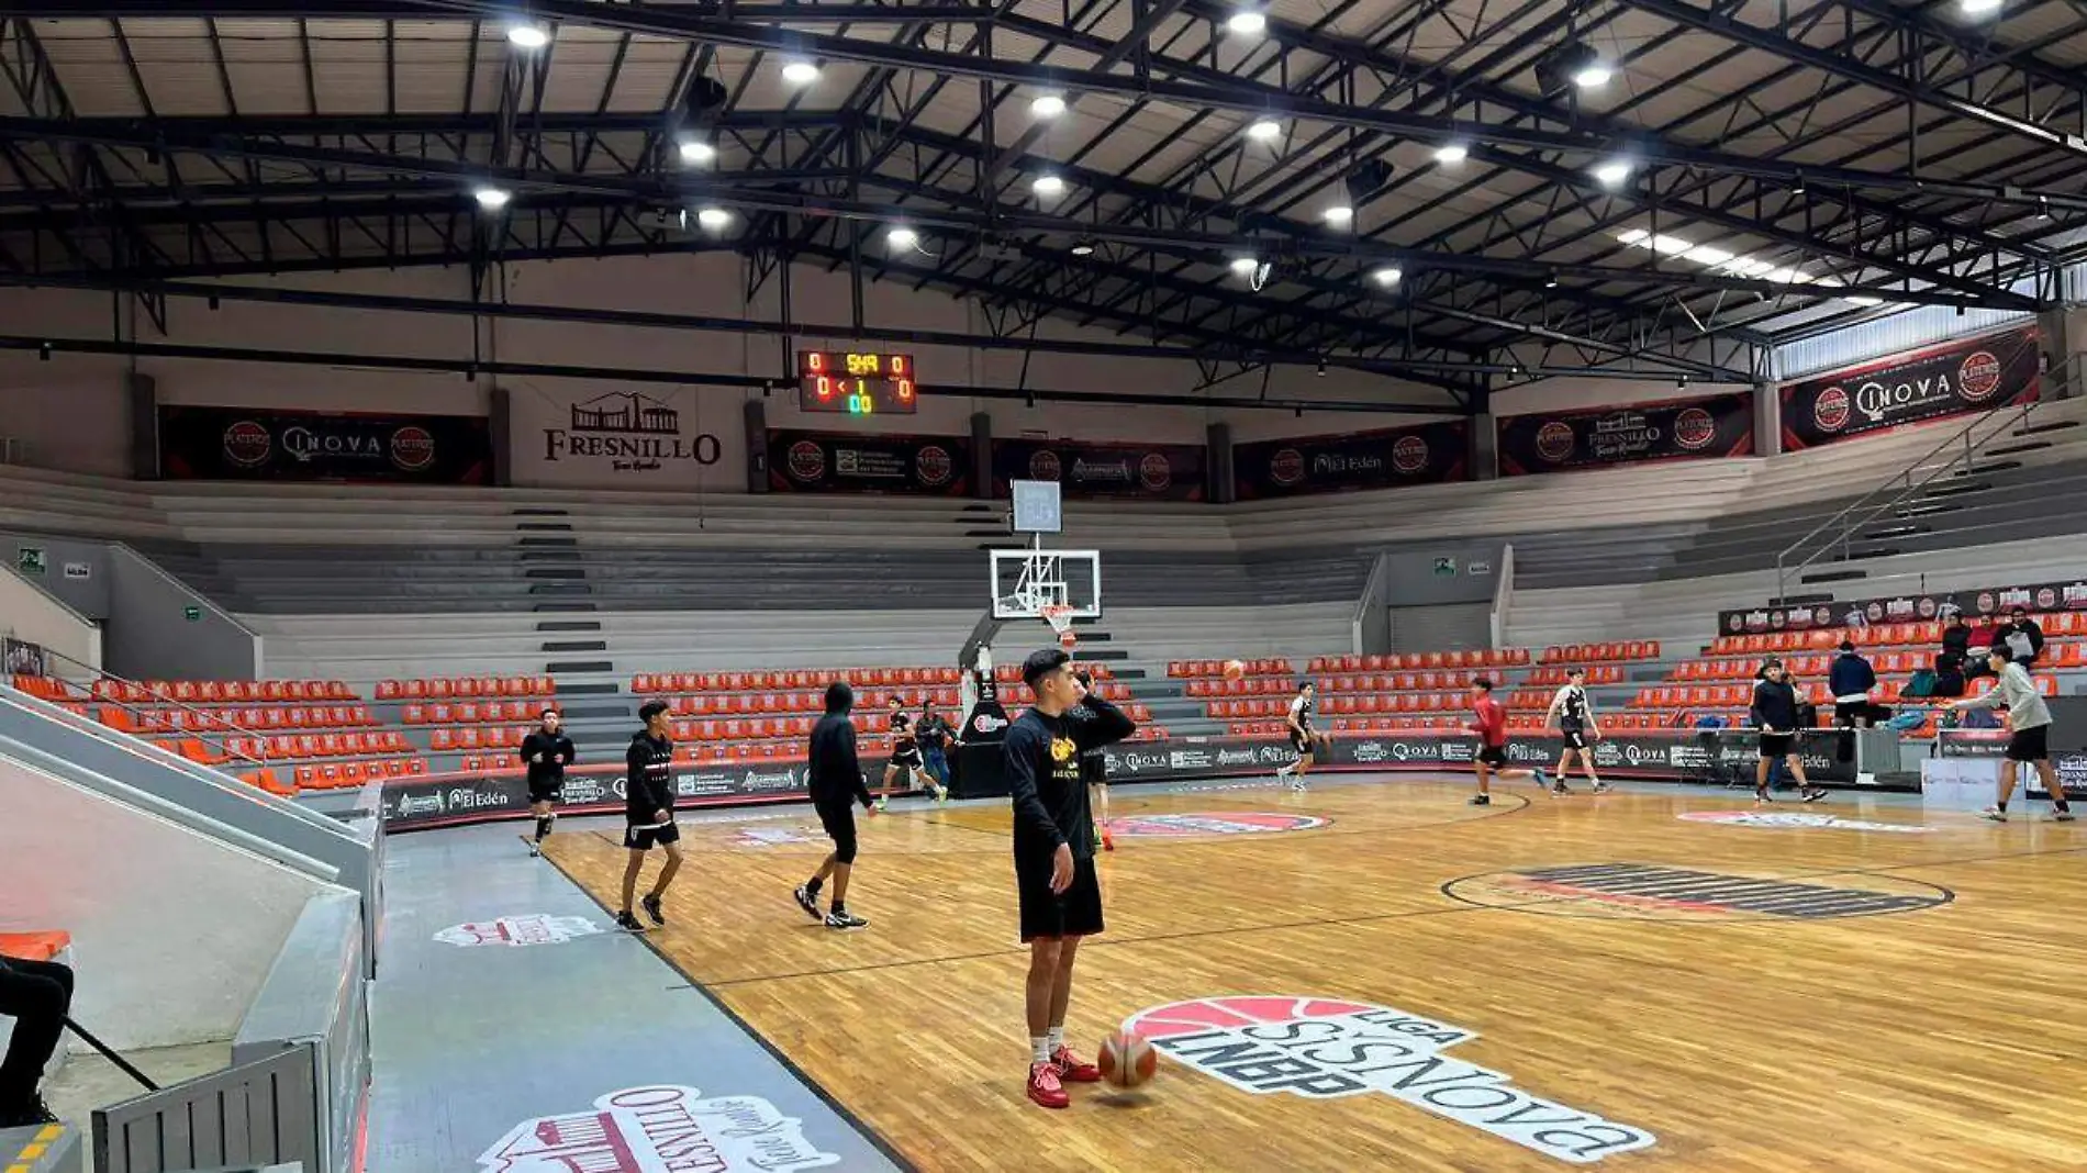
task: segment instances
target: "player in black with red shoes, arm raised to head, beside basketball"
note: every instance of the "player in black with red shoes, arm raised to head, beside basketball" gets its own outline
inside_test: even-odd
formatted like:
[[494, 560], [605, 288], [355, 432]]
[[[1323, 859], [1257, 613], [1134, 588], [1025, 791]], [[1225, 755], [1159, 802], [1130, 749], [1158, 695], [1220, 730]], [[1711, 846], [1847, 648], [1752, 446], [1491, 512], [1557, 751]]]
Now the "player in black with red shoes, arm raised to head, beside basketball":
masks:
[[1064, 1083], [1102, 1073], [1064, 1046], [1073, 960], [1081, 937], [1102, 931], [1102, 881], [1094, 872], [1094, 812], [1079, 756], [1114, 745], [1137, 726], [1117, 705], [1089, 697], [1060, 647], [1023, 662], [1035, 701], [1008, 726], [1002, 751], [1014, 801], [1014, 891], [1029, 945], [1029, 1098], [1064, 1108]]

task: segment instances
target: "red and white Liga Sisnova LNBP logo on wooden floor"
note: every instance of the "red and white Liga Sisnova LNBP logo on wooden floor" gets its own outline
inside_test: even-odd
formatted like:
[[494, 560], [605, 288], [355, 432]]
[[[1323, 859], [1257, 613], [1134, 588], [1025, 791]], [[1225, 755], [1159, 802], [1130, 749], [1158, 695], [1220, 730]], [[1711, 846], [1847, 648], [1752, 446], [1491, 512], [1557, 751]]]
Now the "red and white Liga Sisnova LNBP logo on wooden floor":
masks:
[[1473, 1031], [1332, 998], [1202, 998], [1140, 1010], [1125, 1029], [1240, 1092], [1336, 1100], [1377, 1092], [1572, 1165], [1651, 1148], [1655, 1135], [1544, 1100], [1453, 1058]]

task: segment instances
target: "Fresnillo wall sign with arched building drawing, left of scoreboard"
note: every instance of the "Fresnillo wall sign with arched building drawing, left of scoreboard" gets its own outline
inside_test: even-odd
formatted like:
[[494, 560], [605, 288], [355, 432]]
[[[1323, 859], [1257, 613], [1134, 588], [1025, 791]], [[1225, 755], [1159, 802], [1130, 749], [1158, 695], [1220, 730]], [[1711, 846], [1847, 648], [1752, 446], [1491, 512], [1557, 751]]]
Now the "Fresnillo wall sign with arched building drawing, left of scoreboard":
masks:
[[507, 403], [515, 484], [724, 493], [747, 486], [737, 394], [687, 386], [599, 394], [524, 386], [509, 388]]

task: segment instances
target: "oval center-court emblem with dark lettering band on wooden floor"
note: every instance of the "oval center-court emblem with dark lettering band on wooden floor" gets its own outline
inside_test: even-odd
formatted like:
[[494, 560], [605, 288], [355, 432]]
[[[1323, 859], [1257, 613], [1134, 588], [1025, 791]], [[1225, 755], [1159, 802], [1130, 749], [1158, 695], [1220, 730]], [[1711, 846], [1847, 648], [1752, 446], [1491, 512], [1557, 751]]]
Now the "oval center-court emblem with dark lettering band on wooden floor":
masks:
[[1442, 885], [1465, 904], [1609, 920], [1826, 920], [1918, 912], [1956, 900], [1947, 887], [1882, 875], [1803, 881], [1734, 877], [1661, 864], [1569, 864], [1486, 872]]

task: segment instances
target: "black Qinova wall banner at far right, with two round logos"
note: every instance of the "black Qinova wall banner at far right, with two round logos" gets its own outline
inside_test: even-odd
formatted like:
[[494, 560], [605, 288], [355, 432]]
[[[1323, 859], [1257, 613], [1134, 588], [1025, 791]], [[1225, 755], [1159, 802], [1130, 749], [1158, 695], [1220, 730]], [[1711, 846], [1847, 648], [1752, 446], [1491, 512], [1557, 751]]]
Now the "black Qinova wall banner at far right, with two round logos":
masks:
[[1782, 449], [1812, 449], [2037, 399], [2035, 326], [1964, 338], [1782, 386]]

